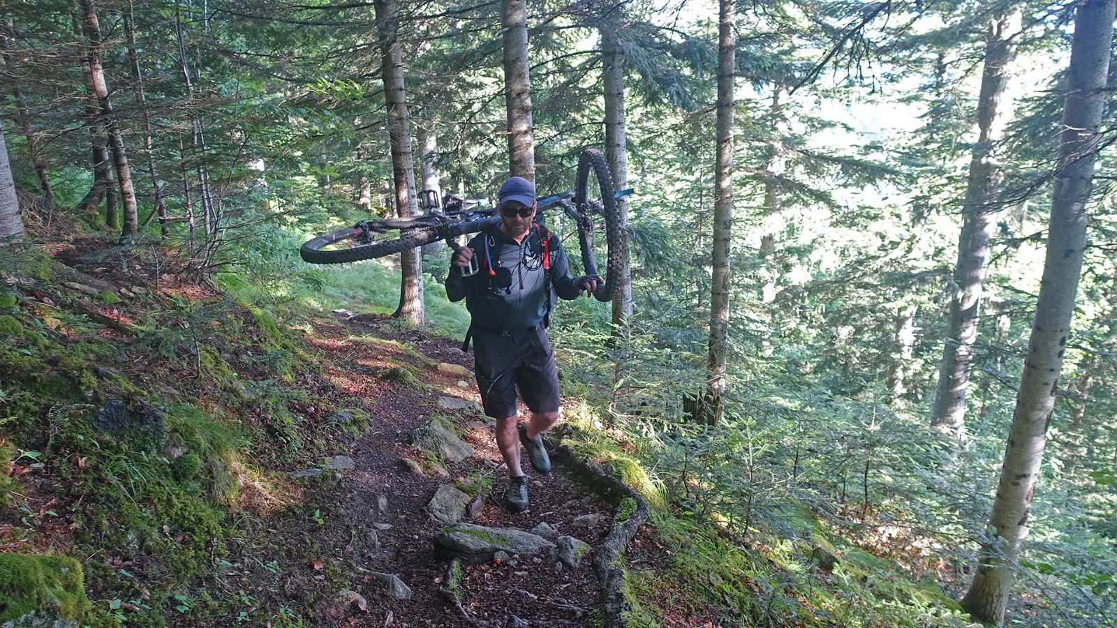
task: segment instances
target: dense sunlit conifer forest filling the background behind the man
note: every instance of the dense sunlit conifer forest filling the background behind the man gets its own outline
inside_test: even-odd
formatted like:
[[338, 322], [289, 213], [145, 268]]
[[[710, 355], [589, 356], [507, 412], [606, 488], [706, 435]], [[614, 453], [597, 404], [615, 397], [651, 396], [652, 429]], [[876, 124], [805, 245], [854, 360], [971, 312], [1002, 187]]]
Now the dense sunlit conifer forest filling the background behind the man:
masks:
[[[173, 249], [184, 275], [280, 326], [305, 307], [394, 310], [403, 327], [460, 337], [446, 247], [402, 289], [407, 259], [314, 267], [297, 249], [413, 213], [416, 188], [494, 196], [509, 173], [503, 4], [4, 0], [2, 137], [19, 202], [0, 208], [0, 231], [19, 234], [15, 215], [47, 251], [87, 234], [120, 238], [113, 250]], [[1092, 66], [1100, 127], [1067, 159], [1087, 11], [1106, 51]], [[706, 554], [674, 569], [732, 609], [724, 625], [958, 625], [966, 611], [1117, 622], [1113, 16], [1111, 0], [526, 3], [538, 189], [571, 189], [585, 148], [634, 189], [630, 291], [612, 310], [580, 301], [554, 315], [569, 420], [628, 469], [661, 530], [703, 540]], [[393, 179], [393, 47], [410, 191]], [[732, 103], [728, 163], [719, 102]], [[1089, 166], [1080, 279], [1048, 282], [1070, 285], [1073, 316], [1048, 380], [1053, 410], [1029, 441], [1041, 466], [1015, 480], [1034, 496], [1004, 541], [991, 513], [1028, 410], [1018, 397], [1070, 162]], [[26, 272], [7, 249], [6, 276]], [[204, 313], [178, 307], [172, 320]], [[152, 330], [163, 344], [149, 349], [181, 358], [169, 339], [185, 329]], [[9, 470], [57, 420], [20, 406], [11, 360]], [[813, 597], [817, 572], [787, 567], [795, 539], [836, 552], [846, 593]], [[785, 570], [757, 575], [758, 556]], [[1011, 594], [983, 592], [980, 563]], [[176, 582], [204, 568], [188, 571]], [[911, 588], [886, 584], [897, 578]], [[105, 599], [128, 587], [86, 579]], [[176, 589], [161, 590], [150, 617], [174, 624]]]

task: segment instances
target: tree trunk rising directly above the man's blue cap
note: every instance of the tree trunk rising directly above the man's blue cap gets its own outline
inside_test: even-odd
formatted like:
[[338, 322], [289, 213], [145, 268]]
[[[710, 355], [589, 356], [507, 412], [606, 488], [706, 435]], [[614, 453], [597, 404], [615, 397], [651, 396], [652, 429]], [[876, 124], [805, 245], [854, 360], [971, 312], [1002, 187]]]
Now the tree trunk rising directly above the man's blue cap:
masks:
[[504, 102], [508, 113], [508, 173], [535, 180], [532, 79], [527, 69], [527, 2], [504, 0]]

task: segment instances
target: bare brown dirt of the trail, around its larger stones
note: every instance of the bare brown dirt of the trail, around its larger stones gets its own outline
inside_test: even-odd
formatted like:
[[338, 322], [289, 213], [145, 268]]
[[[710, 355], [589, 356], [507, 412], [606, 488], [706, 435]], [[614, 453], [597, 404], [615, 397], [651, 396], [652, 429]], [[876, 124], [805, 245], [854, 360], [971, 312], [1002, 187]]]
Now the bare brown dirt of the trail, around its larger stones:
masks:
[[[351, 605], [345, 617], [337, 619], [342, 625], [378, 627], [590, 626], [590, 611], [600, 605], [600, 583], [589, 559], [577, 569], [562, 571], [545, 554], [469, 565], [462, 574], [460, 609], [440, 593], [448, 561], [436, 554], [433, 539], [442, 524], [424, 508], [441, 484], [470, 483], [481, 477], [489, 480], [489, 494], [471, 523], [529, 531], [546, 522], [557, 534], [572, 535], [593, 546], [608, 533], [611, 507], [577, 484], [566, 467], [556, 464], [547, 475], [527, 465], [531, 507], [523, 513], [505, 510], [500, 495], [507, 470], [496, 449], [493, 428], [472, 408], [447, 410], [439, 403], [443, 396], [478, 401], [472, 380], [445, 373], [391, 344], [361, 339], [393, 339], [433, 363], [469, 369], [471, 355], [462, 354], [450, 341], [417, 332], [392, 332], [390, 325], [386, 318], [360, 323], [341, 318], [336, 327], [319, 326], [321, 340], [315, 342], [337, 363], [352, 365], [346, 388], [367, 400], [364, 407], [376, 426], [353, 447], [355, 469], [347, 473], [343, 486], [317, 498], [336, 501], [352, 530], [359, 531], [346, 545], [352, 552], [350, 560], [369, 572], [395, 574], [412, 591], [410, 599], [391, 599], [382, 594], [383, 586], [374, 575], [354, 574], [354, 582], [364, 580], [357, 592], [364, 596], [367, 611]], [[421, 369], [430, 388], [399, 387], [376, 375], [393, 362]], [[526, 409], [521, 411], [526, 416]], [[454, 415], [466, 425], [467, 441], [476, 450], [474, 457], [447, 467], [443, 477], [419, 475], [403, 464], [404, 457], [422, 459], [422, 454], [408, 445], [409, 435], [435, 412]], [[593, 524], [574, 524], [575, 517], [593, 513], [604, 516]], [[523, 624], [517, 624], [517, 618]]]

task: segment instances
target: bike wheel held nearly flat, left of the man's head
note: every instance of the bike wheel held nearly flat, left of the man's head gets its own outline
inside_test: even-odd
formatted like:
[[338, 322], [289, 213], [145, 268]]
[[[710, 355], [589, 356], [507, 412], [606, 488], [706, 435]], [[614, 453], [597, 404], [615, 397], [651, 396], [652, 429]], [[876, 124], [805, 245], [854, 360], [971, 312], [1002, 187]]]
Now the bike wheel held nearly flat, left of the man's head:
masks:
[[[460, 222], [442, 223], [429, 216], [416, 219], [375, 220], [374, 229], [360, 226], [337, 229], [323, 234], [304, 244], [298, 254], [308, 264], [345, 264], [360, 261], [404, 250], [443, 238], [455, 238], [462, 234], [475, 234], [500, 222], [500, 217], [476, 215]], [[403, 235], [395, 237], [395, 231]]]

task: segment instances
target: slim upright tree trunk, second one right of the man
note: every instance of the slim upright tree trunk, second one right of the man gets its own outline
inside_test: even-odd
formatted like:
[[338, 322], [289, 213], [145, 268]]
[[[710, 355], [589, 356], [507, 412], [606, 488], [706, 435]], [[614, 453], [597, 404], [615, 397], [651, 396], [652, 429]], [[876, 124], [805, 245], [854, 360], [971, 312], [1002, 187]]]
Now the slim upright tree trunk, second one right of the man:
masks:
[[717, 164], [714, 196], [714, 254], [709, 305], [708, 392], [716, 400], [710, 424], [725, 410], [725, 358], [729, 331], [729, 244], [733, 235], [733, 80], [736, 0], [720, 0], [717, 50]]

